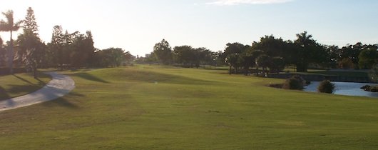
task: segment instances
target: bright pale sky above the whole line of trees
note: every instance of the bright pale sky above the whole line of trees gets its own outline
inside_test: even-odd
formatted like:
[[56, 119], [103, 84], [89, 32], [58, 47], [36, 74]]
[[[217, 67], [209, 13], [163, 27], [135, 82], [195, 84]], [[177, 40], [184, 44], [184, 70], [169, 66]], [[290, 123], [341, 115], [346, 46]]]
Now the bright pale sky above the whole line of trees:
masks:
[[[172, 47], [223, 51], [265, 35], [295, 40], [303, 31], [320, 44], [378, 44], [377, 0], [0, 0], [0, 11], [13, 10], [15, 21], [29, 6], [46, 43], [61, 25], [90, 30], [98, 49], [120, 47], [135, 56], [149, 54], [162, 39]], [[9, 40], [9, 33], [0, 36]]]

